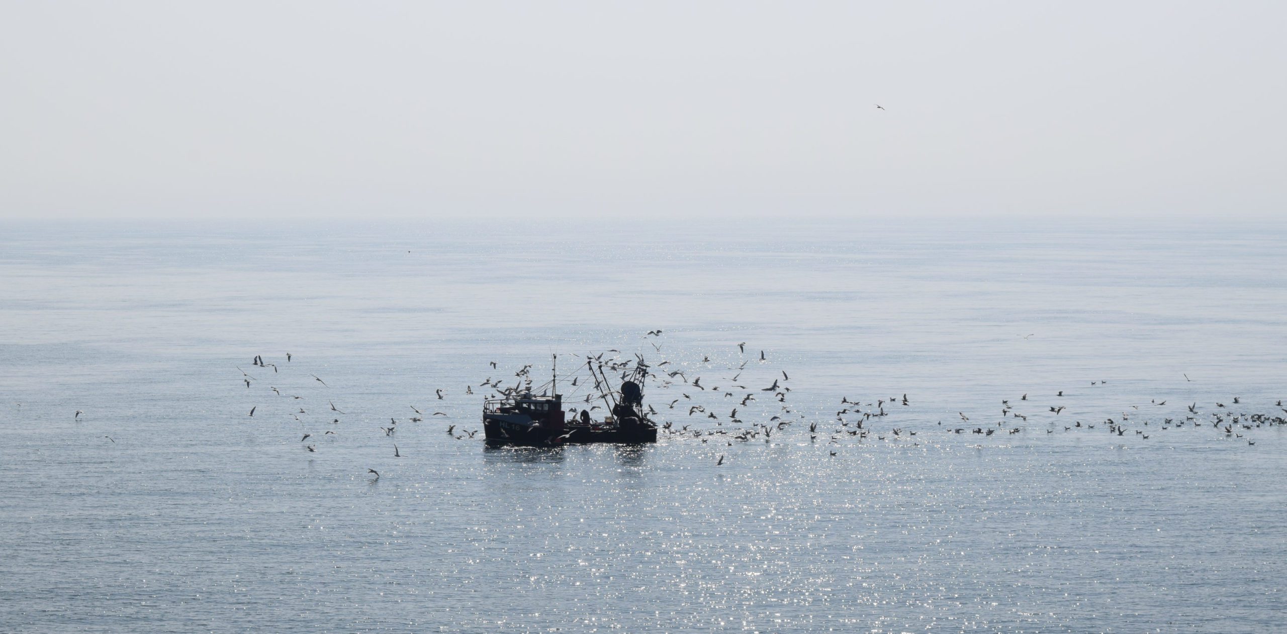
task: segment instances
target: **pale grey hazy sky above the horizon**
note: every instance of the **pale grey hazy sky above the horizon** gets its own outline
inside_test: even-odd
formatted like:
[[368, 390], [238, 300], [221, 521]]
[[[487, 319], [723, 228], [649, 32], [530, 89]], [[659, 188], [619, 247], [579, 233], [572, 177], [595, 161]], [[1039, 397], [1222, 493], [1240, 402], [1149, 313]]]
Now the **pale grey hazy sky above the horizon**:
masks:
[[1275, 215], [1284, 33], [1281, 0], [4, 0], [0, 217]]

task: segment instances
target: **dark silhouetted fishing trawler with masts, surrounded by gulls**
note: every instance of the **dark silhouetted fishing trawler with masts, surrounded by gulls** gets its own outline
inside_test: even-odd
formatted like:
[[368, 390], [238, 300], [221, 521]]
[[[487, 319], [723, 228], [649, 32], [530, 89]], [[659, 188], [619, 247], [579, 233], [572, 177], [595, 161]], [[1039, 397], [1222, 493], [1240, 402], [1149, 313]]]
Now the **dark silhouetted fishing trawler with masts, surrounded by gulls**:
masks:
[[[555, 358], [557, 369], [557, 356]], [[541, 396], [530, 390], [511, 390], [501, 399], [483, 403], [483, 431], [489, 445], [560, 446], [591, 442], [641, 444], [656, 442], [656, 426], [644, 413], [644, 382], [649, 367], [638, 361], [622, 376], [622, 383], [613, 390], [604, 372], [604, 364], [587, 360], [586, 368], [595, 382], [597, 395], [588, 401], [601, 401], [610, 412], [596, 421], [589, 410], [565, 419], [562, 396], [559, 394], [557, 372], [550, 390]], [[588, 382], [587, 382], [588, 385]], [[596, 399], [597, 396], [597, 399]]]

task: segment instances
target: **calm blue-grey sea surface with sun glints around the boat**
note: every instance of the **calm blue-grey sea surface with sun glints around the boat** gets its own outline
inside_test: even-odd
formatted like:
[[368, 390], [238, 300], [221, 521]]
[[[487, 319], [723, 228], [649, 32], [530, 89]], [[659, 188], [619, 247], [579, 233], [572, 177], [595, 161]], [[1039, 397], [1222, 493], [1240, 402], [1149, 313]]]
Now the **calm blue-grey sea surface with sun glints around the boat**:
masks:
[[[0, 631], [1287, 616], [1287, 439], [1251, 417], [1287, 415], [1282, 222], [3, 231]], [[484, 381], [553, 354], [588, 406], [570, 382], [609, 350], [686, 431], [465, 433]], [[867, 437], [855, 400], [887, 414]]]

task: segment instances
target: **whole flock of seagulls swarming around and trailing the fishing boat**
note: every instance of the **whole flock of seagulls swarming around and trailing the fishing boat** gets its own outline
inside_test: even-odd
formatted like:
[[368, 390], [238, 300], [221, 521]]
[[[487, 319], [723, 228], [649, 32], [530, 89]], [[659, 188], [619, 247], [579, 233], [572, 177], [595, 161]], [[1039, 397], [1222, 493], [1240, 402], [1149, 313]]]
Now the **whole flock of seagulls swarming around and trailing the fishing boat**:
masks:
[[[649, 340], [649, 345], [654, 351], [660, 352], [662, 346], [656, 341], [662, 336], [663, 331], [658, 329], [649, 331], [644, 338]], [[559, 387], [561, 388], [560, 394], [564, 395], [565, 406], [574, 404], [569, 408], [569, 419], [577, 419], [578, 408], [584, 409], [591, 417], [595, 417], [597, 410], [604, 409], [602, 405], [597, 404], [601, 399], [598, 391], [600, 383], [592, 378], [593, 373], [588, 368], [598, 369], [601, 376], [606, 376], [606, 373], [619, 374], [623, 381], [633, 373], [642, 370], [647, 379], [651, 381], [646, 392], [654, 395], [658, 392], [669, 394], [669, 396], [664, 396], [660, 400], [654, 400], [654, 403], [660, 403], [660, 410], [656, 409], [656, 405], [647, 405], [647, 413], [653, 421], [658, 422], [659, 432], [674, 440], [692, 439], [703, 444], [714, 440], [723, 441], [726, 446], [732, 446], [734, 442], [758, 440], [770, 442], [773, 436], [781, 437], [792, 426], [807, 426], [808, 442], [817, 444], [821, 441], [829, 455], [835, 457], [837, 450], [834, 448], [846, 441], [862, 442], [874, 439], [876, 441], [906, 441], [911, 445], [919, 445], [920, 439], [928, 431], [924, 428], [928, 421], [923, 415], [919, 417], [919, 431], [910, 430], [905, 424], [885, 422], [896, 412], [900, 414], [907, 412], [903, 410], [903, 408], [911, 406], [911, 399], [909, 399], [907, 394], [878, 399], [842, 396], [837, 403], [834, 414], [801, 412], [789, 401], [792, 387], [789, 387], [790, 374], [786, 370], [771, 368], [772, 364], [763, 350], [758, 354], [752, 352], [748, 355], [745, 342], [736, 343], [735, 347], [737, 350], [736, 356], [732, 356], [730, 352], [730, 355], [718, 361], [712, 360], [710, 355], [701, 355], [700, 360], [660, 360], [655, 364], [649, 363], [644, 355], [637, 352], [633, 358], [623, 358], [619, 350], [609, 350], [598, 355], [586, 355], [586, 363], [577, 365], [574, 372], [553, 377], [559, 381], [557, 385], [553, 381], [544, 385], [534, 385], [532, 364], [521, 367], [514, 373], [511, 379], [493, 378], [494, 373], [499, 372], [499, 365], [495, 361], [490, 361], [489, 367], [493, 370], [493, 376], [488, 376], [477, 386], [465, 386], [462, 394], [477, 401], [479, 399], [514, 397], [519, 394], [534, 392], [541, 388], [544, 388], [546, 394], [548, 394], [551, 388]], [[254, 391], [257, 383], [264, 383], [269, 377], [287, 378], [283, 374], [290, 374], [290, 368], [299, 367], [297, 363], [292, 363], [293, 356], [291, 352], [286, 352], [284, 363], [278, 365], [277, 363], [265, 360], [263, 355], [255, 355], [251, 359], [251, 367], [256, 368], [251, 372], [255, 372], [255, 374], [237, 367], [241, 372], [241, 383], [245, 385], [245, 390]], [[730, 361], [728, 358], [732, 358], [732, 360]], [[283, 373], [283, 370], [286, 372]], [[308, 382], [308, 385], [315, 382], [323, 390], [331, 390], [331, 386], [322, 377], [313, 373], [305, 374], [311, 378], [311, 382]], [[752, 381], [752, 377], [757, 378]], [[512, 385], [506, 385], [510, 381], [512, 381]], [[1185, 381], [1190, 379], [1185, 376]], [[754, 387], [748, 387], [748, 385]], [[1104, 385], [1107, 385], [1107, 381], [1090, 382], [1091, 387]], [[475, 391], [475, 387], [479, 390]], [[309, 409], [320, 410], [323, 418], [328, 419], [328, 424], [340, 424], [340, 417], [347, 415], [345, 410], [335, 404], [333, 397], [326, 397], [324, 406], [311, 406], [313, 401], [309, 400], [310, 397], [299, 394], [286, 394], [275, 386], [269, 386], [266, 391], [257, 394], [273, 394], [273, 399], [288, 399], [291, 403], [288, 408], [290, 415], [305, 427], [317, 424], [318, 422], [315, 415], [310, 417]], [[408, 409], [414, 415], [404, 415], [404, 421], [399, 421], [398, 415], [389, 415], [387, 426], [384, 423], [378, 424], [380, 433], [395, 439], [398, 430], [402, 428], [399, 424], [405, 427], [405, 423], [420, 423], [426, 418], [441, 417], [444, 423], [447, 423], [445, 432], [448, 437], [453, 440], [480, 440], [477, 439], [480, 430], [466, 430], [459, 422], [453, 422], [452, 408], [447, 406], [447, 404], [450, 404], [452, 394], [454, 392], [448, 388], [434, 390], [434, 401], [443, 401], [443, 409], [448, 412], [425, 408], [425, 410], [430, 412], [426, 415], [425, 410], [412, 404], [408, 405]], [[934, 427], [943, 428], [949, 435], [968, 433], [983, 437], [1000, 432], [1017, 435], [1031, 431], [1028, 427], [1030, 417], [1041, 415], [1046, 423], [1044, 431], [1048, 435], [1059, 432], [1062, 427], [1063, 432], [1089, 433], [1102, 430], [1098, 433], [1108, 433], [1111, 436], [1130, 435], [1139, 440], [1149, 440], [1157, 433], [1171, 430], [1210, 427], [1212, 433], [1230, 440], [1242, 439], [1246, 440], [1247, 445], [1254, 446], [1256, 441], [1246, 432], [1260, 427], [1287, 424], [1287, 418], [1284, 418], [1287, 409], [1283, 408], [1282, 400], [1274, 404], [1282, 414], [1250, 412], [1250, 408], [1242, 403], [1242, 399], [1234, 396], [1228, 400], [1228, 404], [1215, 403], [1210, 406], [1199, 406], [1198, 403], [1192, 403], [1187, 405], [1183, 413], [1158, 409], [1166, 406], [1166, 400], [1152, 399], [1148, 405], [1130, 405], [1117, 415], [1097, 418], [1095, 421], [1082, 421], [1080, 418], [1067, 421], [1071, 417], [1063, 415], [1064, 410], [1068, 409], [1068, 405], [1064, 404], [1068, 400], [1064, 391], [1055, 391], [1046, 399], [1049, 403], [1040, 405], [1036, 404], [1035, 397], [1030, 399], [1028, 394], [1023, 394], [1015, 399], [1000, 399], [999, 417], [991, 414], [967, 414], [967, 412], [960, 410], [956, 412], [956, 417], [949, 423], [945, 424], [943, 421], [938, 421]], [[476, 403], [476, 405], [481, 405], [481, 403]], [[261, 412], [260, 404], [252, 405], [246, 415], [254, 418], [256, 412]], [[273, 412], [274, 414], [279, 414], [281, 408], [274, 408]], [[1161, 415], [1163, 413], [1169, 415]], [[76, 410], [73, 418], [80, 421], [82, 414], [82, 410]], [[985, 419], [987, 421], [986, 423], [983, 422]], [[1022, 422], [1022, 424], [1018, 422]], [[300, 444], [305, 451], [315, 453], [318, 451], [317, 440], [327, 436], [337, 436], [337, 431], [326, 430], [320, 433], [317, 431], [305, 431], [300, 437]], [[116, 442], [109, 436], [104, 437]], [[310, 439], [314, 441], [309, 442]], [[396, 442], [391, 442], [391, 445], [394, 458], [403, 458], [405, 455], [398, 448]], [[716, 458], [716, 466], [725, 464], [725, 460], [726, 455], [719, 454]], [[376, 469], [368, 469], [368, 475], [375, 478], [380, 477]]]

